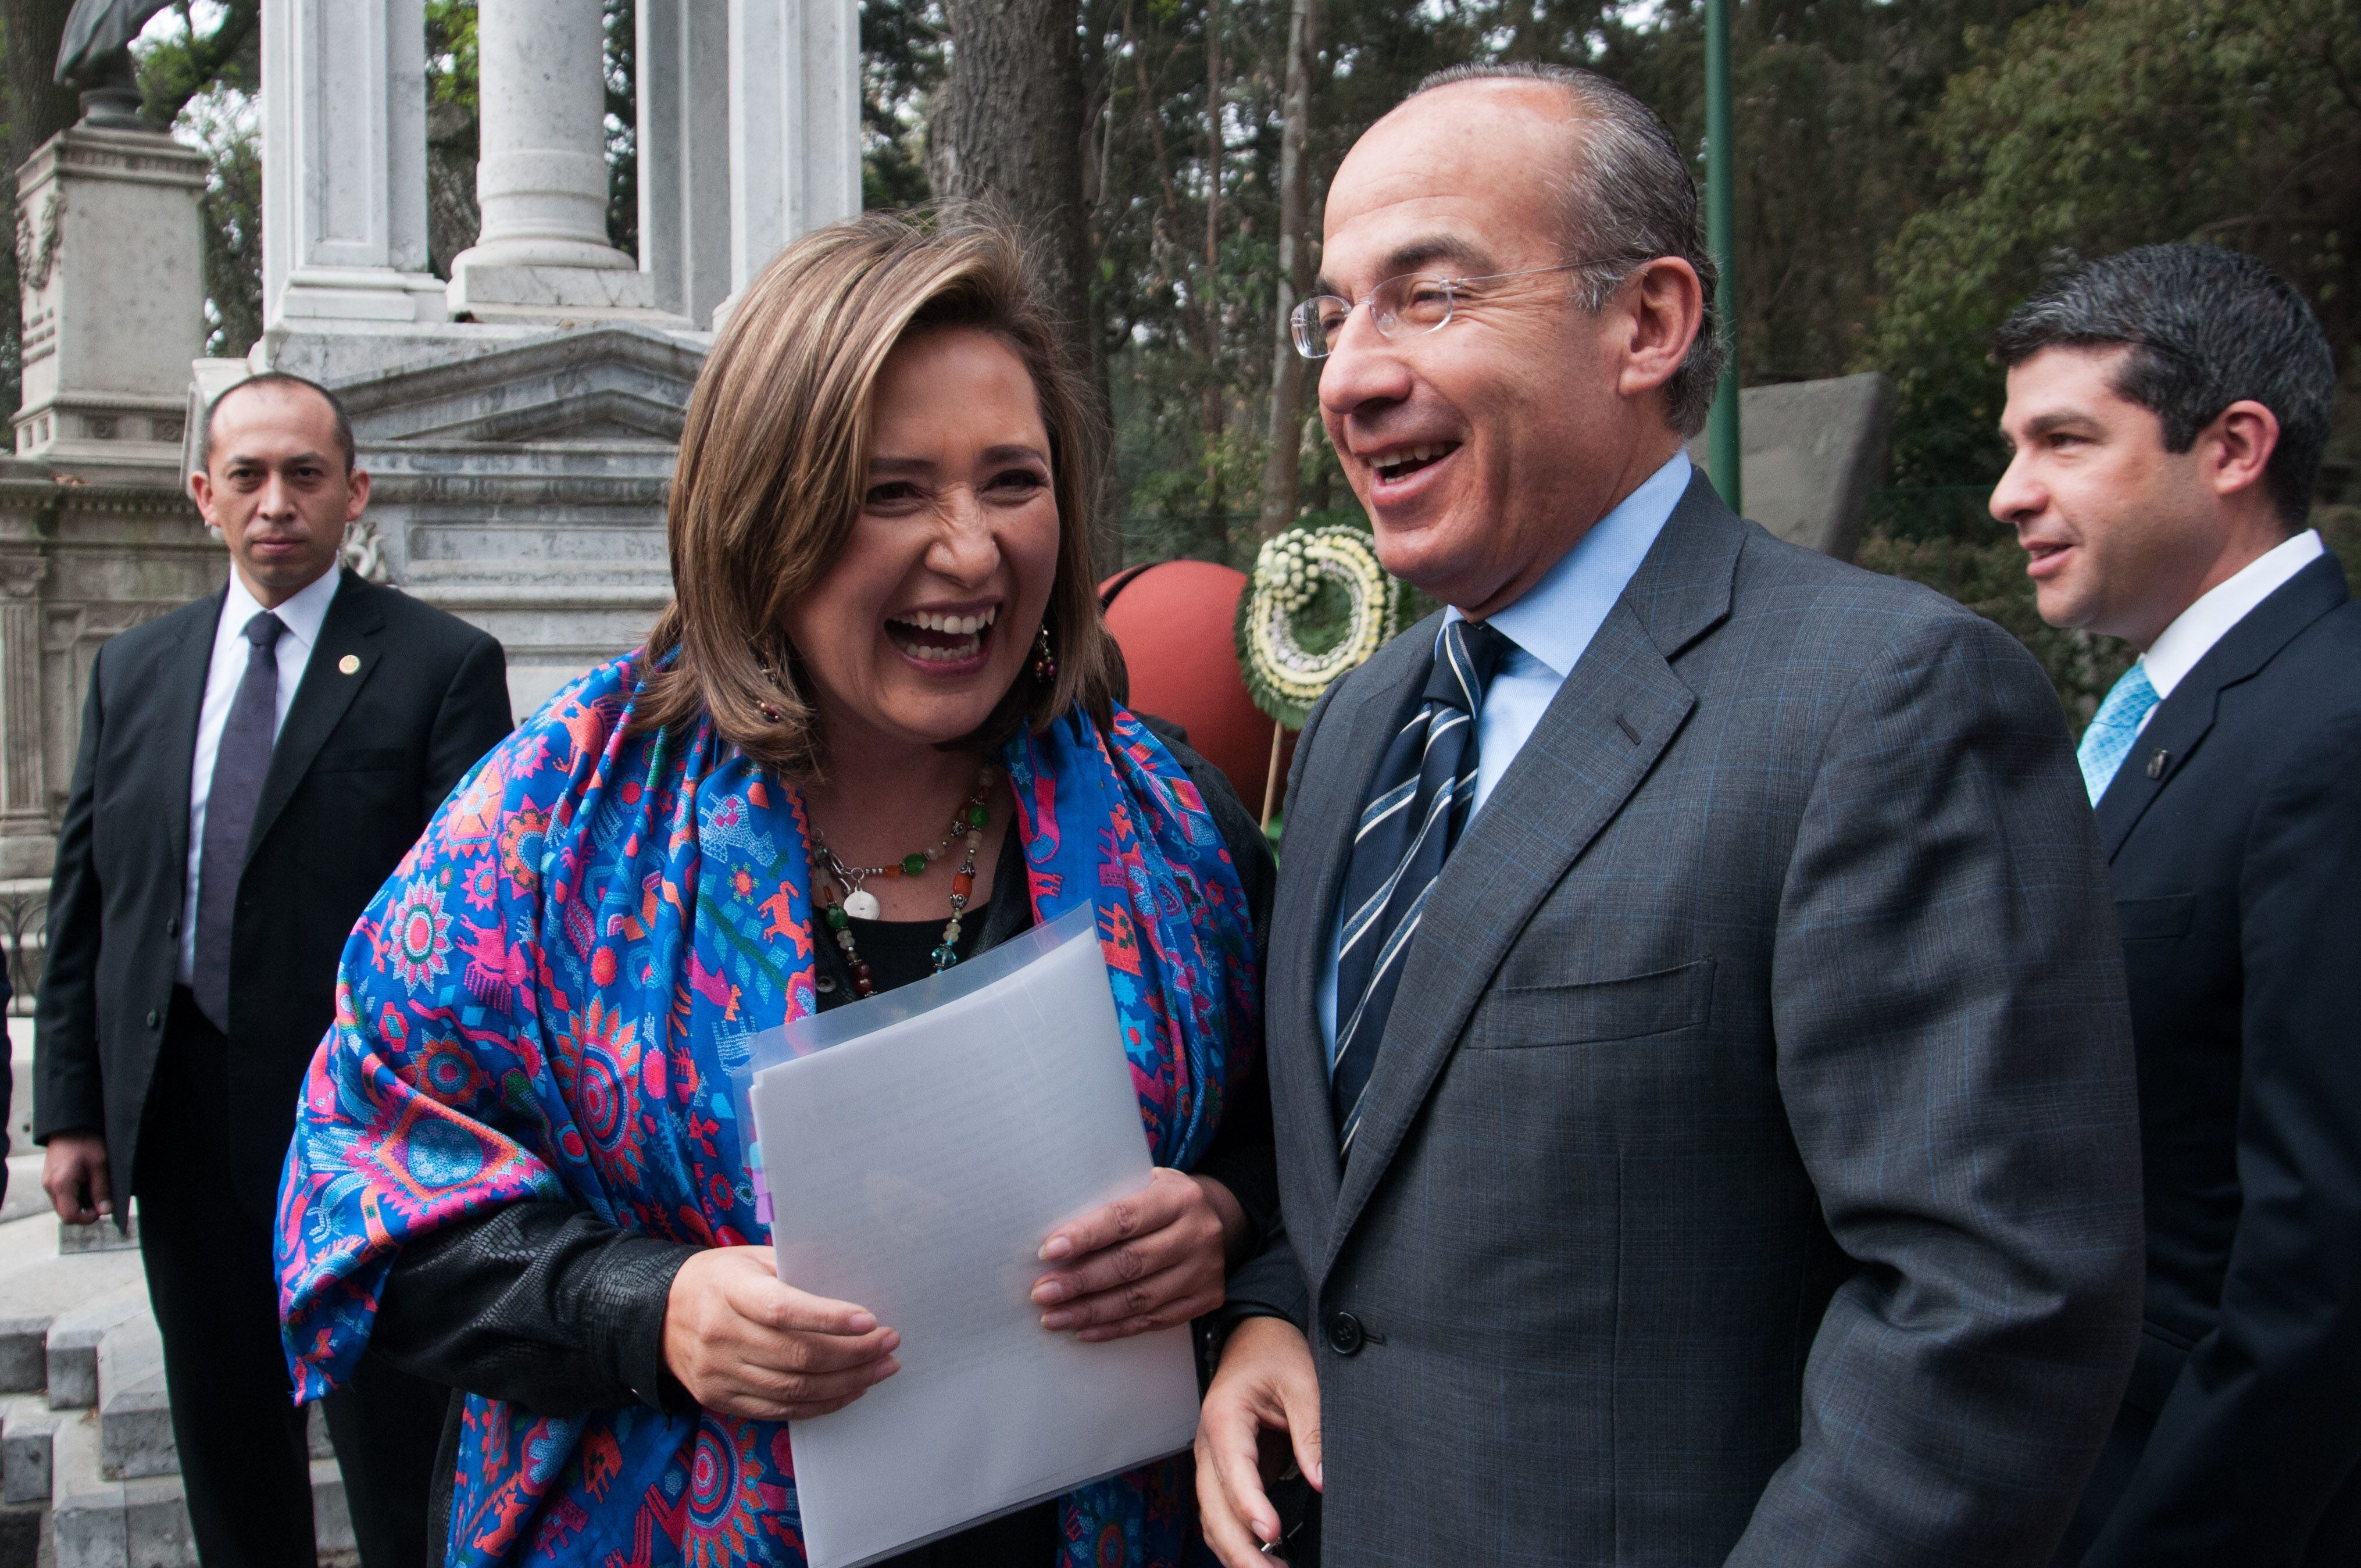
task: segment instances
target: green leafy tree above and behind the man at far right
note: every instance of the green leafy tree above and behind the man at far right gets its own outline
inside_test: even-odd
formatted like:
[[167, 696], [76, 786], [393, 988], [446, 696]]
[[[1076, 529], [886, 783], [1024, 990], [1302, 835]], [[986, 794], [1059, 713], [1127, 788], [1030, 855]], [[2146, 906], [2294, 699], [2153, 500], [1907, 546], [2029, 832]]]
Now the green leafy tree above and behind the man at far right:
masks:
[[1974, 35], [1929, 142], [1943, 191], [1889, 250], [1868, 354], [1903, 390], [1898, 482], [1997, 475], [1993, 328], [2047, 272], [2130, 246], [2262, 255], [2352, 385], [2361, 0], [2054, 5]]

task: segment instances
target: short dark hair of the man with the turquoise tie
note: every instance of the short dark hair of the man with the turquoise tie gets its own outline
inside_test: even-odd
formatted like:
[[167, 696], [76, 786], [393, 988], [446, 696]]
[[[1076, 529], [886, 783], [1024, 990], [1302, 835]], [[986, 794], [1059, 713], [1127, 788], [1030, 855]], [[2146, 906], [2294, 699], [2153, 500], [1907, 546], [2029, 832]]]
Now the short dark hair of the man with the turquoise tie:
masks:
[[2337, 404], [2337, 357], [2304, 295], [2222, 246], [2141, 246], [2085, 262], [2016, 307], [1993, 349], [2012, 371], [2042, 349], [2130, 347], [2115, 392], [2156, 413], [2165, 451], [2189, 451], [2224, 409], [2278, 420], [2262, 470], [2288, 529], [2304, 527]]

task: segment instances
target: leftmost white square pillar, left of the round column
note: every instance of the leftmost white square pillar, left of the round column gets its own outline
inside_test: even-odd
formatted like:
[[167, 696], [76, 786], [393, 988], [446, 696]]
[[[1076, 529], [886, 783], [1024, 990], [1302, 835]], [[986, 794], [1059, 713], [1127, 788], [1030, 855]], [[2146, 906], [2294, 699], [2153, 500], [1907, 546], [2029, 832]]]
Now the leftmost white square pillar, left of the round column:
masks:
[[425, 0], [262, 0], [264, 338], [444, 314]]

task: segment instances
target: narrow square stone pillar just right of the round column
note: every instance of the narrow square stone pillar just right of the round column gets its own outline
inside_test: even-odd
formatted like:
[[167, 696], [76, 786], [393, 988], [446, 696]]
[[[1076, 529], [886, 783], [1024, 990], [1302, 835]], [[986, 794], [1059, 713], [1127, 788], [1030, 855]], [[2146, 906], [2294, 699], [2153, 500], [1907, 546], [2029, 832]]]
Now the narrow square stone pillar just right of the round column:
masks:
[[730, 14], [640, 0], [637, 26], [640, 272], [701, 328], [730, 293]]

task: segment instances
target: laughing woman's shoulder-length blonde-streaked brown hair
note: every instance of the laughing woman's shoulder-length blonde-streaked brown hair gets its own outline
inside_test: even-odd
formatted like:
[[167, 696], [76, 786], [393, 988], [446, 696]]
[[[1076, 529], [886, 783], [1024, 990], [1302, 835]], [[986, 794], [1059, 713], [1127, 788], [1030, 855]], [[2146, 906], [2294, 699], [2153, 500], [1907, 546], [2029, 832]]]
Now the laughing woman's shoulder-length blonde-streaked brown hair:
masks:
[[992, 333], [1025, 361], [1058, 501], [1058, 574], [1044, 614], [1058, 673], [1020, 673], [954, 746], [999, 746], [1077, 704], [1110, 720], [1119, 666], [1091, 560], [1105, 427], [1027, 283], [1022, 248], [989, 217], [866, 213], [781, 250], [730, 312], [696, 378], [666, 520], [673, 602], [647, 638], [635, 732], [680, 732], [711, 713], [720, 737], [756, 763], [786, 779], [819, 775], [826, 749], [784, 633], [786, 609], [826, 576], [859, 515], [885, 357], [933, 328]]

